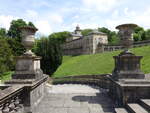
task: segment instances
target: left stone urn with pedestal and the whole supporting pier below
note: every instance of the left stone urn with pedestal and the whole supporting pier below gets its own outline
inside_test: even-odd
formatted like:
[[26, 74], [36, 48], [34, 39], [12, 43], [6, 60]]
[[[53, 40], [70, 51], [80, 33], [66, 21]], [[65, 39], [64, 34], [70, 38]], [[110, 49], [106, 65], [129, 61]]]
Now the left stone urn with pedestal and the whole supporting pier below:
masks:
[[22, 85], [23, 113], [34, 113], [37, 105], [44, 97], [48, 76], [43, 74], [40, 68], [41, 57], [36, 56], [31, 51], [37, 29], [28, 26], [20, 29], [22, 32], [22, 44], [26, 48], [26, 52], [16, 57], [15, 73], [12, 75], [12, 79], [6, 81], [5, 84]]

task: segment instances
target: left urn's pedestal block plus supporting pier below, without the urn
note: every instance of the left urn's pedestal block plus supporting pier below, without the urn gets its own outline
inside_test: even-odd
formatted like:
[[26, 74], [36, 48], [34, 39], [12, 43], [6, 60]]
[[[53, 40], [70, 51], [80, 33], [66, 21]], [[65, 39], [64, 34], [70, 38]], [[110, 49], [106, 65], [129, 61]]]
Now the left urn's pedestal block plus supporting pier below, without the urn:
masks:
[[9, 85], [23, 85], [23, 106], [25, 113], [33, 113], [44, 97], [45, 83], [48, 76], [40, 68], [38, 56], [19, 56], [16, 59], [15, 73], [12, 80], [5, 82]]

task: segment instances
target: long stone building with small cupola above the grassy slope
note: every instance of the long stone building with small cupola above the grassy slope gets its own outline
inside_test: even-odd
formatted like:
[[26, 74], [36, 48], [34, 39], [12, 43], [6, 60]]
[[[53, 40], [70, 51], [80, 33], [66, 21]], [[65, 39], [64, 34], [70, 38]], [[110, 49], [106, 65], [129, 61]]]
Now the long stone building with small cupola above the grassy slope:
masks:
[[62, 45], [64, 55], [95, 54], [100, 52], [100, 45], [107, 45], [108, 37], [105, 33], [93, 30], [86, 36], [82, 36], [79, 26], [66, 39]]

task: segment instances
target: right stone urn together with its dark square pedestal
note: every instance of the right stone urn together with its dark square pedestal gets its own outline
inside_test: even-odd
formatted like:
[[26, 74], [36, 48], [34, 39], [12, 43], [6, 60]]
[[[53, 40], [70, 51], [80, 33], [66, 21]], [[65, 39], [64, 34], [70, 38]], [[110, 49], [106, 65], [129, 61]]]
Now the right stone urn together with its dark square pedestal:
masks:
[[122, 24], [116, 27], [119, 30], [119, 37], [124, 51], [118, 56], [114, 56], [115, 69], [113, 71], [113, 78], [119, 79], [142, 79], [144, 74], [140, 70], [140, 61], [142, 56], [136, 56], [129, 51], [133, 45], [133, 30], [137, 27], [135, 24]]

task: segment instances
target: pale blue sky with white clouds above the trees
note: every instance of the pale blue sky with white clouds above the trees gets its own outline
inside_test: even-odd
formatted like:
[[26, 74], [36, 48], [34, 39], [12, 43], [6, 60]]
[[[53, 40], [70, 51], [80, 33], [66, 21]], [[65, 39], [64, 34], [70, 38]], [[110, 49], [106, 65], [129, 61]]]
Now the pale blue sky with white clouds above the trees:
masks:
[[0, 27], [15, 19], [31, 21], [40, 35], [135, 23], [150, 28], [150, 0], [0, 0]]

